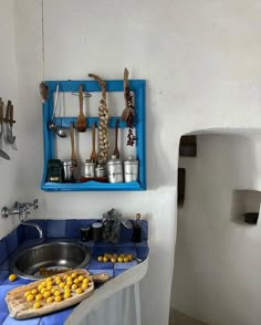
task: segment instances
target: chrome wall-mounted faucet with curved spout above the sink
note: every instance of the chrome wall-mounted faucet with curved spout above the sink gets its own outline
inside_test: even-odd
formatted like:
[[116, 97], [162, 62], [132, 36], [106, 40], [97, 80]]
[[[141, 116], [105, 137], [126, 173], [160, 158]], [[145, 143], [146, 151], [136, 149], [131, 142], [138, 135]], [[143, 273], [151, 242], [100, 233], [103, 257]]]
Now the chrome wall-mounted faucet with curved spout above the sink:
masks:
[[34, 211], [38, 208], [39, 208], [38, 199], [33, 200], [32, 203], [30, 203], [30, 202], [25, 202], [25, 203], [14, 202], [12, 209], [9, 209], [7, 207], [2, 208], [1, 217], [3, 219], [7, 219], [10, 214], [14, 214], [14, 216], [17, 214], [17, 216], [19, 216], [19, 220], [21, 221], [21, 224], [34, 227], [39, 232], [39, 237], [43, 238], [43, 232], [42, 232], [41, 227], [39, 227], [36, 223], [25, 222], [28, 220], [28, 216], [32, 212], [32, 210]]

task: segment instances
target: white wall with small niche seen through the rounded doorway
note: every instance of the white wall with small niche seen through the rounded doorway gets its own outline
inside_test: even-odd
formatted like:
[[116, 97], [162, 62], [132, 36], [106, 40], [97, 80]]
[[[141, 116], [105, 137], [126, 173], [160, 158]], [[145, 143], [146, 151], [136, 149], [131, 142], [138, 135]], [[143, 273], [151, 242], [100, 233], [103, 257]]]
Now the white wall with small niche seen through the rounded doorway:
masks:
[[[171, 306], [213, 325], [259, 325], [261, 319], [260, 134], [198, 136], [186, 168], [186, 199], [178, 210]], [[254, 185], [252, 187], [252, 185]], [[260, 190], [260, 188], [259, 188]]]

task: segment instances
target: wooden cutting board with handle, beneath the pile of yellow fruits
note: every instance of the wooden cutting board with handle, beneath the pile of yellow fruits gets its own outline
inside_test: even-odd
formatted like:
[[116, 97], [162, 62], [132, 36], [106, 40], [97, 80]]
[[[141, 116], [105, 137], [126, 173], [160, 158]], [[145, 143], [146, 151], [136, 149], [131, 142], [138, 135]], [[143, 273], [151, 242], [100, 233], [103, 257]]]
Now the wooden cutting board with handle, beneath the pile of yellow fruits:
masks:
[[[73, 273], [77, 274], [77, 277], [80, 275], [83, 275], [84, 277], [88, 277], [88, 285], [87, 287], [83, 291], [83, 293], [76, 293], [76, 290], [71, 289], [71, 296], [69, 298], [64, 298], [64, 289], [61, 289], [55, 280], [60, 276], [61, 281], [66, 283], [66, 276], [72, 276]], [[95, 282], [105, 282], [109, 279], [109, 275], [107, 273], [102, 273], [102, 274], [95, 274], [95, 275], [90, 275], [88, 271], [77, 269], [77, 270], [72, 270], [69, 272], [60, 273], [53, 276], [48, 277], [49, 283], [50, 280], [53, 283], [53, 287], [56, 287], [61, 292], [62, 301], [61, 302], [52, 302], [48, 303], [46, 298], [42, 298], [39, 301], [41, 306], [39, 308], [34, 307], [35, 304], [35, 296], [36, 294], [41, 294], [39, 291], [39, 285], [41, 285], [43, 282], [46, 283], [46, 280], [39, 280], [32, 283], [29, 283], [27, 285], [22, 285], [19, 287], [15, 287], [7, 293], [6, 296], [6, 302], [8, 304], [8, 308], [10, 312], [10, 316], [17, 319], [25, 319], [25, 318], [31, 318], [31, 317], [39, 317], [41, 315], [45, 315], [55, 311], [60, 311], [63, 308], [66, 308], [69, 306], [72, 306], [74, 304], [77, 304], [88, 297], [93, 292], [94, 292], [94, 281]], [[73, 280], [75, 280], [74, 277]], [[79, 286], [82, 286], [82, 282], [77, 284]], [[44, 286], [45, 287], [45, 286]], [[33, 301], [28, 301], [24, 294], [27, 292], [32, 292], [33, 290], [38, 290], [36, 294], [33, 294], [34, 300]], [[51, 291], [51, 289], [46, 290]], [[54, 291], [54, 290], [53, 290]], [[54, 293], [52, 294], [54, 296]]]

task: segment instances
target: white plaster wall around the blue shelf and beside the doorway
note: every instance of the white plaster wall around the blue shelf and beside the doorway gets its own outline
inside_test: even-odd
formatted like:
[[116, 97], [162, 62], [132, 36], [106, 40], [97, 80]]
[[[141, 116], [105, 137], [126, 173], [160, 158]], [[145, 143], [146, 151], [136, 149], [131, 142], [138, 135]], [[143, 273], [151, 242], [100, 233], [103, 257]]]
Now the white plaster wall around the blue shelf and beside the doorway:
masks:
[[[177, 149], [181, 134], [259, 128], [261, 6], [255, 0], [44, 0], [45, 78], [95, 72], [146, 78], [148, 190], [45, 193], [42, 175], [41, 1], [17, 0], [18, 199], [38, 197], [39, 218], [86, 218], [116, 207], [150, 222], [150, 264], [142, 283], [143, 325], [168, 322], [176, 238]], [[4, 189], [2, 188], [1, 191]], [[11, 191], [10, 191], [11, 192]]]

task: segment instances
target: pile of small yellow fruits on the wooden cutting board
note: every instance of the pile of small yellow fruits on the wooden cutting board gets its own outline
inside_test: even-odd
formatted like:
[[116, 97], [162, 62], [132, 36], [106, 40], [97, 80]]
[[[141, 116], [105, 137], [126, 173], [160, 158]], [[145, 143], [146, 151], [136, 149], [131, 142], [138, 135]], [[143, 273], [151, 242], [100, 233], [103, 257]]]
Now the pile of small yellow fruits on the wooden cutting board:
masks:
[[72, 274], [48, 277], [38, 287], [27, 291], [28, 302], [35, 302], [33, 307], [40, 308], [43, 304], [60, 303], [73, 294], [82, 294], [90, 285], [90, 277], [73, 272]]

